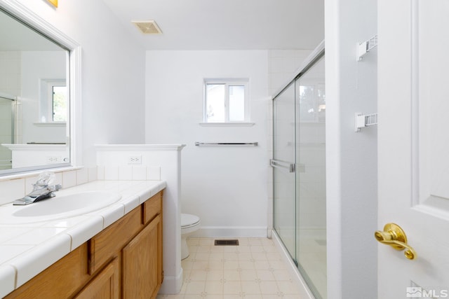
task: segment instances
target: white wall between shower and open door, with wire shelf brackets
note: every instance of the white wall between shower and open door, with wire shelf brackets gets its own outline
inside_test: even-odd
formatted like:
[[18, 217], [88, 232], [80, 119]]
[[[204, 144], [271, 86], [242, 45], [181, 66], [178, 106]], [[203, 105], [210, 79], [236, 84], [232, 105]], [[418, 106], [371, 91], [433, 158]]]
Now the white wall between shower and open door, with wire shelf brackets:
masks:
[[326, 1], [328, 294], [377, 298], [377, 128], [354, 132], [355, 113], [377, 112], [377, 54], [356, 43], [377, 33], [377, 1]]

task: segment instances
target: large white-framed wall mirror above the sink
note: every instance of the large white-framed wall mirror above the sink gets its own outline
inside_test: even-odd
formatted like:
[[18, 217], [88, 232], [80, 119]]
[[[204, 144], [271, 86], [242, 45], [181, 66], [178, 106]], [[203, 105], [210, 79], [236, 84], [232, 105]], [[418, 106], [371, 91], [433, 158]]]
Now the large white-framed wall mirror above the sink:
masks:
[[0, 175], [71, 165], [72, 41], [0, 2]]

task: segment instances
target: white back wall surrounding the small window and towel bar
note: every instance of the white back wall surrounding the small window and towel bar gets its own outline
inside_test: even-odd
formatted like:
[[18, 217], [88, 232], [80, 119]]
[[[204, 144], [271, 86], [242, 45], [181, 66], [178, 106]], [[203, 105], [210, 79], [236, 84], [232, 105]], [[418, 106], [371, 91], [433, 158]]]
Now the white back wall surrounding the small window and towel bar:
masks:
[[[182, 211], [201, 235], [265, 236], [267, 229], [267, 51], [147, 51], [145, 141], [187, 144]], [[203, 127], [203, 79], [249, 78], [251, 127]], [[259, 142], [201, 147], [201, 142]]]

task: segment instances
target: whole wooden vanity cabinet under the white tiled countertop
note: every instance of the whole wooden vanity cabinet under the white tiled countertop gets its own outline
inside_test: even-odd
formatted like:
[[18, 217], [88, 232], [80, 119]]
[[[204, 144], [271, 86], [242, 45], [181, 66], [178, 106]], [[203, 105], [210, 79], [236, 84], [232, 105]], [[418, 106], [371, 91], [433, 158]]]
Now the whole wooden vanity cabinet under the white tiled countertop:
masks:
[[163, 280], [163, 191], [43, 270], [12, 298], [156, 298]]

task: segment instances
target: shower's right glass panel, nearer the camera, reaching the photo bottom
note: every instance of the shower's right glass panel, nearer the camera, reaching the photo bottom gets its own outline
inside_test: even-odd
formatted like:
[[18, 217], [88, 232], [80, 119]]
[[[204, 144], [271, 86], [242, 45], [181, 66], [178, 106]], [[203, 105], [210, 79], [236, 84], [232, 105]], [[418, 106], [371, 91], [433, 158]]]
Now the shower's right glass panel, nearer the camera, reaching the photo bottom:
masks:
[[[316, 298], [326, 298], [326, 95], [324, 58], [295, 82], [296, 256]], [[299, 120], [299, 121], [298, 121]]]

